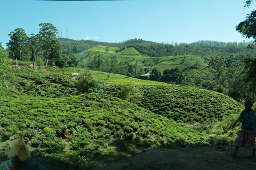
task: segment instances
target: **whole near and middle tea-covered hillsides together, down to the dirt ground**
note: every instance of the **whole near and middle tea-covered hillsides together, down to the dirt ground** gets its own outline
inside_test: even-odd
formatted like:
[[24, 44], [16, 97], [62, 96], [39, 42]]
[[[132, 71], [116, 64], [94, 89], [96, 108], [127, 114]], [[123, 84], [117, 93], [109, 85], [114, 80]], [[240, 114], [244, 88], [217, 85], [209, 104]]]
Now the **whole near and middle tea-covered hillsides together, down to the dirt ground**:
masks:
[[[94, 71], [103, 93], [79, 95], [77, 70], [64, 76], [48, 67], [39, 77], [37, 69], [10, 69], [1, 77], [1, 157], [24, 134], [34, 158], [92, 169], [149, 148], [230, 144], [239, 132], [243, 106], [224, 94]], [[118, 98], [127, 82], [142, 92], [135, 104]], [[197, 126], [204, 123], [215, 126]]]

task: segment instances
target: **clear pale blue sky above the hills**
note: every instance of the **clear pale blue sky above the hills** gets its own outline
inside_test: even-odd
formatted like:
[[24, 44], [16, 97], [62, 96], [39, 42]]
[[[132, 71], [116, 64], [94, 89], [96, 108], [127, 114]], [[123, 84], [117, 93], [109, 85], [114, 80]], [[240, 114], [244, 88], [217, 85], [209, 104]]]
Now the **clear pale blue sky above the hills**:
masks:
[[4, 0], [0, 5], [0, 42], [23, 28], [28, 36], [40, 23], [62, 29], [62, 37], [122, 42], [131, 38], [159, 43], [247, 40], [235, 26], [253, 10], [246, 0]]

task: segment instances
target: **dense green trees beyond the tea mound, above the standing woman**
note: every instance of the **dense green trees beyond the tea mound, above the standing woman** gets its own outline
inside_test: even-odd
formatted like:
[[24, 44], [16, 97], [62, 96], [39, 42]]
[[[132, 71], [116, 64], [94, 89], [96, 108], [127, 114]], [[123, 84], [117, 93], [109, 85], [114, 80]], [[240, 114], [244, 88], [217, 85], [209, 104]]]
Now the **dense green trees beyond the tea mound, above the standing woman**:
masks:
[[206, 88], [225, 93], [237, 101], [241, 99], [255, 99], [255, 86], [246, 82], [248, 69], [246, 63], [241, 62], [235, 55], [229, 58], [214, 57], [208, 66]]

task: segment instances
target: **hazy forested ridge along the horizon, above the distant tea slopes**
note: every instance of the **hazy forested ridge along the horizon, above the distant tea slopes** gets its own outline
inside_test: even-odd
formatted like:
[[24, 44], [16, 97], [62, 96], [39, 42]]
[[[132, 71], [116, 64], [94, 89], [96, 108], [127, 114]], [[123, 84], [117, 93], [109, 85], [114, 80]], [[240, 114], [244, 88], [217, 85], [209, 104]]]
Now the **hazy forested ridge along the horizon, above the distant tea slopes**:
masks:
[[106, 43], [93, 40], [71, 40], [66, 38], [59, 38], [62, 44], [63, 54], [80, 53], [88, 50], [97, 45], [119, 47], [120, 49], [126, 49], [128, 47], [134, 47], [136, 50], [143, 54], [147, 54], [150, 57], [165, 57], [176, 55], [199, 55], [202, 57], [229, 57], [231, 54], [236, 54], [238, 58], [244, 60], [245, 58], [254, 57], [255, 52], [249, 50], [247, 47], [253, 42], [218, 42], [218, 41], [197, 41], [194, 43], [155, 43], [152, 41], [145, 41], [142, 39], [130, 39], [121, 43]]

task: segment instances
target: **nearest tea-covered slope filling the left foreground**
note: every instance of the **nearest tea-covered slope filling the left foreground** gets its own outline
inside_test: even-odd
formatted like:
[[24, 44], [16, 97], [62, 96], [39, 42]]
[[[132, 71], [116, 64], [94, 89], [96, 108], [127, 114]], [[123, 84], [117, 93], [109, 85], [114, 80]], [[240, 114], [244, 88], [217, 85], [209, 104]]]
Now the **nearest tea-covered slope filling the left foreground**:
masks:
[[[4, 95], [6, 91], [10, 96]], [[0, 129], [1, 155], [7, 153], [9, 139], [24, 134], [35, 155], [64, 160], [77, 168], [115, 160], [121, 154], [120, 142], [126, 148], [125, 156], [135, 153], [132, 148], [141, 152], [143, 148], [205, 143], [202, 134], [189, 126], [94, 93], [51, 99], [15, 95], [0, 87]]]

